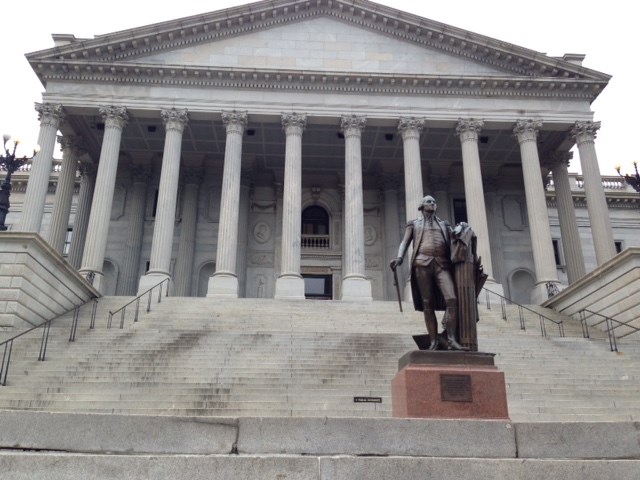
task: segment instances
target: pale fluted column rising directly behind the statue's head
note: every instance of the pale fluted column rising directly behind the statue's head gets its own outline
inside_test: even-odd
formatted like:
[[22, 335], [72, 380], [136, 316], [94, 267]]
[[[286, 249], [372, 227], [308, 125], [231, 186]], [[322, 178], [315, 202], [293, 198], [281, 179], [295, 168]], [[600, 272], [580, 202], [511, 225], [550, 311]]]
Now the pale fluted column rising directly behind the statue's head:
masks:
[[398, 123], [398, 130], [402, 134], [402, 150], [404, 154], [404, 190], [407, 222], [415, 219], [418, 205], [420, 205], [424, 196], [420, 160], [420, 133], [423, 129], [424, 120], [421, 119], [403, 117]]

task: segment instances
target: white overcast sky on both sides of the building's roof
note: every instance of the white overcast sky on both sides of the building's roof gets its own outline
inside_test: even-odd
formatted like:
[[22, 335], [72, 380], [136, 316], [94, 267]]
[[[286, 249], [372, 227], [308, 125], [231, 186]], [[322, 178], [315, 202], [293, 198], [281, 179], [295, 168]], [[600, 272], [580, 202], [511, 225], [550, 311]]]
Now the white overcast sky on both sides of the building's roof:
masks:
[[[33, 104], [42, 100], [44, 89], [24, 55], [53, 47], [52, 33], [92, 38], [245, 3], [249, 2], [57, 0], [36, 4], [22, 0], [3, 4], [0, 133], [20, 137], [25, 145], [37, 142], [39, 125]], [[602, 174], [615, 174], [616, 164], [622, 164], [623, 171], [631, 171], [631, 162], [640, 160], [633, 142], [631, 150], [626, 148], [628, 136], [638, 135], [631, 127], [637, 124], [635, 115], [640, 106], [639, 89], [632, 85], [640, 67], [635, 57], [628, 58], [637, 43], [636, 36], [631, 36], [636, 32], [637, 20], [633, 2], [380, 0], [378, 3], [552, 56], [586, 54], [585, 67], [613, 76], [592, 104], [595, 120], [602, 121], [596, 139]], [[570, 171], [579, 170], [576, 155]]]

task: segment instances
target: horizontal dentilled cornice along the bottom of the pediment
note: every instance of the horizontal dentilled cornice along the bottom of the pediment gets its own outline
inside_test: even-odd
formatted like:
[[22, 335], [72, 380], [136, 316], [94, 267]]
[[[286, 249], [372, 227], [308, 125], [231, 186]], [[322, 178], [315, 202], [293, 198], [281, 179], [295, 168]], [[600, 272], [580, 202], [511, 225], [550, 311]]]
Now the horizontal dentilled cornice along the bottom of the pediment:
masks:
[[203, 88], [331, 91], [404, 95], [551, 97], [594, 100], [606, 83], [531, 77], [460, 77], [286, 69], [238, 69], [155, 64], [42, 61], [41, 81]]

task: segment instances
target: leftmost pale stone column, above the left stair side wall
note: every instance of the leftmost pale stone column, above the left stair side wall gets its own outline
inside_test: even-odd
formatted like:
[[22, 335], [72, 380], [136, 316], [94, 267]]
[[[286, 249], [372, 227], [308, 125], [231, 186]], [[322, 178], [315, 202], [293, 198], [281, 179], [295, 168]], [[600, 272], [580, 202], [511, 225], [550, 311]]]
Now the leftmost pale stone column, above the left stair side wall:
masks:
[[[24, 194], [24, 209], [16, 226], [20, 232], [38, 233], [42, 226], [44, 205], [49, 189], [49, 176], [53, 164], [53, 149], [56, 146], [58, 128], [62, 125], [65, 112], [62, 105], [36, 103], [40, 133], [38, 145], [40, 151], [35, 155], [29, 172], [29, 183]], [[65, 228], [66, 231], [66, 228]]]

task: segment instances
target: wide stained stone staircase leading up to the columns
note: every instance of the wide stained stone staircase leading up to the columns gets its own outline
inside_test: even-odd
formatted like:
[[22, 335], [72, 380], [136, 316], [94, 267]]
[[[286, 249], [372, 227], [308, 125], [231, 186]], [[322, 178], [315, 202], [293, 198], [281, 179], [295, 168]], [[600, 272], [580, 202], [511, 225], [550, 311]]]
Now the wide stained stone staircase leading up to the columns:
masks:
[[[229, 417], [389, 417], [398, 359], [424, 333], [421, 314], [394, 302], [164, 298], [133, 323], [132, 309], [107, 329], [109, 310], [129, 299], [100, 300], [96, 328], [81, 316], [52, 327], [47, 360], [39, 338], [16, 342], [1, 410]], [[548, 312], [547, 312], [548, 313]], [[480, 349], [496, 353], [516, 422], [640, 420], [640, 342], [609, 351], [602, 334], [566, 337], [516, 307], [508, 320], [481, 305]], [[592, 332], [595, 333], [595, 332]], [[553, 336], [556, 335], [556, 336]], [[355, 403], [373, 397], [380, 403]]]

